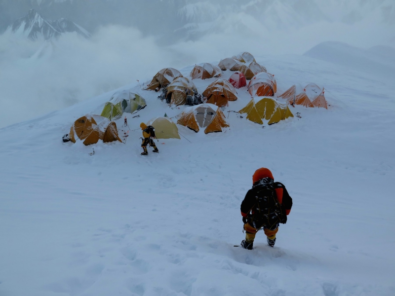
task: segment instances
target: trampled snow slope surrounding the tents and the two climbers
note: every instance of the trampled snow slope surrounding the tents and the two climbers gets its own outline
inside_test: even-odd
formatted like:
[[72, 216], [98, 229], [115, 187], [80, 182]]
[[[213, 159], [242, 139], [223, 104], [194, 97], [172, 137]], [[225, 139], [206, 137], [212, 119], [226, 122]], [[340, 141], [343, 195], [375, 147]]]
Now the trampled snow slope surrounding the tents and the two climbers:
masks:
[[[330, 108], [291, 108], [302, 118], [264, 128], [230, 112], [226, 132], [179, 126], [192, 143], [161, 140], [145, 157], [139, 130], [126, 144], [61, 142], [113, 92], [0, 129], [0, 295], [394, 295], [394, 76], [308, 56], [255, 58], [276, 75], [277, 94], [315, 82]], [[212, 81], [194, 83], [202, 92]], [[131, 130], [185, 108], [129, 87], [148, 105], [126, 114]], [[250, 100], [237, 92], [226, 116]], [[247, 251], [234, 247], [239, 206], [260, 167], [294, 206], [275, 248], [259, 232]]]

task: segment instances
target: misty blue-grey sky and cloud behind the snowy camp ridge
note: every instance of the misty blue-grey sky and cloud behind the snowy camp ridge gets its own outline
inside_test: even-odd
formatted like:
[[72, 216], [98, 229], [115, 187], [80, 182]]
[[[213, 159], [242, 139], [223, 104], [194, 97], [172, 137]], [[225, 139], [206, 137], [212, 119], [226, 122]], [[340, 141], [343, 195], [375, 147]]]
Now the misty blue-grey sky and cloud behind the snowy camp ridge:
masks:
[[[242, 5], [233, 0], [163, 0], [133, 1], [132, 6], [112, 0], [103, 2], [110, 6], [97, 2], [94, 10], [78, 6], [80, 0], [35, 1], [0, 1], [7, 16], [2, 19], [22, 17], [36, 5], [44, 17], [67, 17], [85, 25], [92, 37], [70, 33], [32, 41], [0, 35], [0, 127], [137, 79], [150, 80], [165, 67], [218, 62], [242, 51], [301, 55], [325, 41], [395, 47], [391, 0], [252, 0]], [[129, 11], [133, 17], [127, 17]]]

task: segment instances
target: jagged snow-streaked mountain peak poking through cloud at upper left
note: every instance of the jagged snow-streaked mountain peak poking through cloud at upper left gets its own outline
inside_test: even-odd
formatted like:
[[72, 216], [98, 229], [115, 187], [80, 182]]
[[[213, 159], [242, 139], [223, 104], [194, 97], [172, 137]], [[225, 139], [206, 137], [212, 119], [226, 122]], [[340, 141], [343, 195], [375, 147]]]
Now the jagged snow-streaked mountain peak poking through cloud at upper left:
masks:
[[77, 32], [85, 38], [91, 36], [88, 31], [68, 19], [47, 20], [34, 9], [30, 9], [26, 16], [17, 19], [7, 28], [6, 32], [25, 36], [32, 40], [40, 37], [48, 40], [71, 32]]

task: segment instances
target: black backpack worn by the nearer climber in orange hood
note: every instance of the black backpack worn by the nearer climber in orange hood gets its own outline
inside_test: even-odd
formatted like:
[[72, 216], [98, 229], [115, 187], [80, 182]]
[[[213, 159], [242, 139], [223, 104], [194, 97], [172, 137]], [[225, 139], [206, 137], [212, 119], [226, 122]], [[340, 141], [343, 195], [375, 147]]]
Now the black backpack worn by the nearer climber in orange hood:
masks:
[[251, 222], [255, 228], [272, 228], [278, 223], [286, 222], [285, 208], [278, 202], [275, 190], [281, 187], [281, 184], [275, 182], [261, 183], [254, 187], [256, 203]]

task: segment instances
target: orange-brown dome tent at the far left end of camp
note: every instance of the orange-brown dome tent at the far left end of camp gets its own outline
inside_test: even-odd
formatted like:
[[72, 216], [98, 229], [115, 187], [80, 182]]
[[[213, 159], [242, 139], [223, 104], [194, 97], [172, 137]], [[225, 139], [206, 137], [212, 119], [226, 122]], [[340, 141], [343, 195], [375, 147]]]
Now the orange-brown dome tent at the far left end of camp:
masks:
[[104, 143], [119, 141], [117, 125], [108, 118], [99, 115], [85, 115], [78, 118], [70, 129], [70, 140], [76, 143], [79, 138], [84, 145], [96, 144], [99, 140]]

